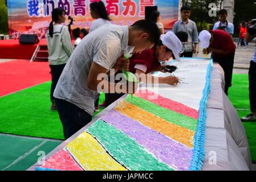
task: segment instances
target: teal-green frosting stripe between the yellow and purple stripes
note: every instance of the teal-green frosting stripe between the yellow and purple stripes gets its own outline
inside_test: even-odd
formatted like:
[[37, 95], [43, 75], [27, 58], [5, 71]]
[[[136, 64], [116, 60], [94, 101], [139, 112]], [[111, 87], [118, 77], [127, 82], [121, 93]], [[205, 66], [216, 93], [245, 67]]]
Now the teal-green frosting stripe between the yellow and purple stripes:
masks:
[[87, 129], [119, 163], [132, 171], [173, 171], [122, 131], [98, 120]]

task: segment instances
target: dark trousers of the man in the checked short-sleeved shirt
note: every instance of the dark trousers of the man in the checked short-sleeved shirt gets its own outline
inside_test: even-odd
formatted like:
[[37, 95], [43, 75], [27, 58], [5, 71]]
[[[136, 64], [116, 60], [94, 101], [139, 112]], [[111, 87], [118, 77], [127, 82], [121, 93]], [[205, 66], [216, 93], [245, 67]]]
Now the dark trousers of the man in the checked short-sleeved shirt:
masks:
[[70, 102], [55, 98], [64, 138], [68, 139], [92, 121], [92, 116]]

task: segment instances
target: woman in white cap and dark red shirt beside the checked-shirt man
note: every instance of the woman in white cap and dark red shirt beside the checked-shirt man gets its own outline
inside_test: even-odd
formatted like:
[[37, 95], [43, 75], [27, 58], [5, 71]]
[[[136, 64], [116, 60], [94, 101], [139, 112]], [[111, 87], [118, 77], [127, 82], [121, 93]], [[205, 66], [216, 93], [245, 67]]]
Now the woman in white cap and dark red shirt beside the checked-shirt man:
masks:
[[[182, 44], [177, 36], [169, 31], [160, 38], [159, 45], [155, 48], [145, 50], [141, 53], [132, 55], [129, 59], [129, 71], [137, 73], [141, 80], [141, 74], [145, 75], [146, 80], [143, 82], [154, 83], [154, 76], [148, 75], [156, 71], [165, 72], [166, 65], [161, 65], [161, 61], [169, 60], [170, 57], [176, 57], [180, 61], [179, 53], [181, 52]], [[177, 85], [178, 78], [174, 76], [159, 77], [159, 84]]]

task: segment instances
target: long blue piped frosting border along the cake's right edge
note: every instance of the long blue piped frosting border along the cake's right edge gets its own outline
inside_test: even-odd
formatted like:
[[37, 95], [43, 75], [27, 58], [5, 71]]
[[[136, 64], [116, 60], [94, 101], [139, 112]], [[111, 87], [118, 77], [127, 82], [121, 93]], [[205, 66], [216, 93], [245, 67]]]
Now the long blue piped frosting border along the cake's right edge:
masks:
[[203, 91], [203, 96], [200, 101], [199, 117], [197, 123], [196, 134], [194, 135], [194, 148], [193, 148], [193, 157], [190, 162], [191, 171], [200, 171], [204, 164], [205, 158], [205, 128], [206, 128], [206, 106], [208, 104], [208, 98], [211, 88], [211, 78], [212, 78], [212, 68], [213, 60], [210, 60], [210, 63], [207, 68], [206, 74], [206, 84]]

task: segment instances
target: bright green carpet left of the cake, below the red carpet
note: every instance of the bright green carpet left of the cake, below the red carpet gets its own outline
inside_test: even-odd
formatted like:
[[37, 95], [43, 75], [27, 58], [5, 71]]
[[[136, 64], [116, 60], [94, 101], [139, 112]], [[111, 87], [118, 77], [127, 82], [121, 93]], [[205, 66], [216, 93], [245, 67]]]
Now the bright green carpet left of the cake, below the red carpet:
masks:
[[[50, 110], [50, 86], [46, 82], [0, 97], [0, 133], [64, 139], [58, 111]], [[104, 100], [101, 94], [99, 103]]]

